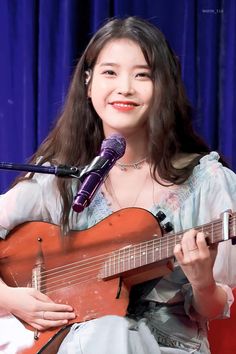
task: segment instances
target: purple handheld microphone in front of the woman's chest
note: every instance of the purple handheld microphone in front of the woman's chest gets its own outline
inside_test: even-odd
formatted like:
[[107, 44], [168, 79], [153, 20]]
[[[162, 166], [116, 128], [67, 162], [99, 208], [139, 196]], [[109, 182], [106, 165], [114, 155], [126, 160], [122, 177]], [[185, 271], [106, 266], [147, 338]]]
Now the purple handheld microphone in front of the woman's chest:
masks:
[[102, 161], [104, 160], [104, 163], [97, 171], [92, 171], [84, 179], [72, 204], [74, 211], [80, 213], [89, 206], [96, 191], [103, 183], [110, 169], [114, 166], [116, 161], [124, 155], [125, 148], [126, 141], [120, 134], [112, 134], [107, 139], [103, 140], [97, 158], [100, 158]]

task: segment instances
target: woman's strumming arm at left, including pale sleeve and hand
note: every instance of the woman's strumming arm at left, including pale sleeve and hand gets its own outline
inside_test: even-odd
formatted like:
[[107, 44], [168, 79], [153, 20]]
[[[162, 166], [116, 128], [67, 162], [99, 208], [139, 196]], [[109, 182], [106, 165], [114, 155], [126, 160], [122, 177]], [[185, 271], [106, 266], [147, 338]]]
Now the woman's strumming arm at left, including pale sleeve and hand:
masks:
[[[58, 210], [54, 181], [51, 176], [35, 176], [0, 196], [0, 237], [4, 238], [9, 230], [25, 221], [52, 219], [45, 201], [48, 198]], [[47, 198], [43, 193], [47, 193]], [[7, 286], [3, 280], [0, 280], [0, 307], [38, 330], [61, 326], [75, 318], [71, 306], [56, 304], [34, 288]]]

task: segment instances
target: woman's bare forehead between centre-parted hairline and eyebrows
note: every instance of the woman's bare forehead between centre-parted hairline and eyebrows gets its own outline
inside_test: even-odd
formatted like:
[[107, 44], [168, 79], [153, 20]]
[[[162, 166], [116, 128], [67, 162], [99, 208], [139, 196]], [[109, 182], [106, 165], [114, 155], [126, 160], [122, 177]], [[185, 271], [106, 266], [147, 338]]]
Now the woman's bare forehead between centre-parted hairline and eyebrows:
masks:
[[147, 65], [138, 43], [128, 38], [113, 39], [105, 44], [98, 55], [96, 65], [104, 63]]

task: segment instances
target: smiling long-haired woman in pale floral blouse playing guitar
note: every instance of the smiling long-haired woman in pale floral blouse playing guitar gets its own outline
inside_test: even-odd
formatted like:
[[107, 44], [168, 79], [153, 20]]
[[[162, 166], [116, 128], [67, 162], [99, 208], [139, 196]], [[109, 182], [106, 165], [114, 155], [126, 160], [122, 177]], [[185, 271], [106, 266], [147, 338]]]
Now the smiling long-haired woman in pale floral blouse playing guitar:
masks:
[[[179, 232], [235, 209], [235, 175], [192, 129], [178, 59], [162, 33], [136, 17], [112, 19], [93, 36], [64, 110], [31, 162], [86, 165], [112, 133], [124, 136], [126, 151], [88, 208], [72, 211], [75, 180], [35, 174], [1, 196], [1, 237], [29, 220], [85, 229], [126, 207], [161, 211]], [[235, 284], [235, 251], [230, 242], [218, 248], [214, 264], [204, 234], [184, 233], [173, 271], [136, 287], [128, 316], [75, 324], [59, 353], [209, 353], [207, 322], [229, 315], [227, 284]], [[33, 289], [2, 282], [1, 294], [1, 306], [37, 330], [76, 316]]]

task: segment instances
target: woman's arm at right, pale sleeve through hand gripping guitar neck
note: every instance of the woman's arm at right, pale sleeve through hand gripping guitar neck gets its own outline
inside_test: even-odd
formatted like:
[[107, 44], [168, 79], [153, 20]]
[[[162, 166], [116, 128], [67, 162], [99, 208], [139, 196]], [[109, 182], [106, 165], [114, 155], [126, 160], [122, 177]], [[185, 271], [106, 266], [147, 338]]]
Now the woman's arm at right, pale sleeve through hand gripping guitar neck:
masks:
[[[202, 158], [193, 177], [192, 192], [181, 212], [180, 229], [209, 223], [228, 209], [236, 211], [236, 175], [218, 162], [217, 153]], [[231, 241], [220, 243], [215, 259], [216, 254], [209, 250], [204, 237], [195, 238], [197, 232], [192, 232], [175, 249], [176, 258], [191, 283], [192, 308], [207, 318], [229, 317], [233, 302], [230, 287], [236, 284], [236, 247]], [[189, 252], [194, 248], [197, 249]]]

